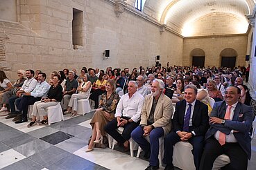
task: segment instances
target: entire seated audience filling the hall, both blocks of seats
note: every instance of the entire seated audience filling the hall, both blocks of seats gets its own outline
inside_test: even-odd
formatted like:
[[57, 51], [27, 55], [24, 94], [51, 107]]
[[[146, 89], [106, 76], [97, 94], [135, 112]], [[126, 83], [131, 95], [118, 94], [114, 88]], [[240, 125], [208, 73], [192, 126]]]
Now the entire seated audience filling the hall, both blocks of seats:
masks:
[[[99, 70], [83, 67], [80, 75], [76, 75], [76, 69], [71, 70], [53, 71], [49, 79], [41, 70], [18, 70], [18, 79], [13, 85], [6, 73], [0, 70], [0, 115], [7, 115], [6, 119], [14, 118], [16, 124], [28, 122], [28, 106], [33, 105], [33, 117], [27, 126], [37, 123], [37, 115], [43, 117], [40, 124], [47, 124], [47, 107], [61, 104], [63, 113], [71, 113], [74, 117], [78, 100], [89, 97], [94, 101], [96, 111], [90, 122], [92, 138], [87, 152], [92, 151], [107, 133], [126, 150], [129, 138], [133, 138], [144, 150], [144, 157], [149, 158], [146, 169], [158, 169], [159, 139], [163, 137], [166, 169], [173, 169], [173, 148], [170, 146], [180, 141], [188, 141], [195, 147], [192, 151], [195, 167], [204, 169], [212, 166], [217, 155], [225, 153], [218, 152], [209, 157], [210, 147], [225, 150], [232, 148], [228, 146], [231, 142], [235, 143], [239, 153], [235, 155], [242, 157], [243, 164], [247, 164], [250, 151], [244, 146], [248, 140], [241, 139], [241, 135], [247, 138], [251, 131], [256, 104], [244, 85], [239, 68], [141, 66], [133, 68], [130, 73], [129, 68]], [[119, 96], [120, 91], [124, 95]], [[239, 109], [246, 112], [237, 115]], [[219, 114], [219, 111], [224, 113]], [[238, 122], [232, 120], [234, 116], [239, 117]], [[116, 131], [120, 126], [125, 129], [123, 134]], [[144, 139], [146, 136], [149, 136], [149, 142]], [[223, 136], [230, 138], [223, 142]], [[205, 139], [204, 151], [202, 141]], [[241, 142], [244, 146], [240, 146]], [[226, 165], [228, 169], [244, 168], [234, 164], [234, 155], [227, 154], [231, 160]]]

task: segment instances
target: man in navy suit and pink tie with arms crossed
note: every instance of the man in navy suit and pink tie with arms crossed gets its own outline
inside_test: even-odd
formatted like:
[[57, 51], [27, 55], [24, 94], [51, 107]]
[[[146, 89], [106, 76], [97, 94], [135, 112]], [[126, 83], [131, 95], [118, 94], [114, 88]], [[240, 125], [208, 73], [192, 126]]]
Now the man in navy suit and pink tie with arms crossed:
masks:
[[214, 104], [200, 169], [212, 169], [215, 159], [223, 153], [230, 158], [226, 169], [247, 169], [253, 109], [239, 102], [240, 93], [239, 88], [230, 86], [225, 91], [225, 101]]

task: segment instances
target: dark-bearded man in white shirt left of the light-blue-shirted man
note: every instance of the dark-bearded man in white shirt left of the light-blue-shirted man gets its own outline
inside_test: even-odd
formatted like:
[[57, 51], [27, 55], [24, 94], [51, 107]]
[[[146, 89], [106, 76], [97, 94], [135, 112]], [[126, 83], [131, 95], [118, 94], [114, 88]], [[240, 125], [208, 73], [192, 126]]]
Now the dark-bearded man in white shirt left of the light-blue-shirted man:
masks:
[[24, 82], [24, 84], [22, 85], [22, 88], [20, 88], [19, 91], [17, 91], [16, 95], [13, 97], [10, 97], [9, 99], [9, 106], [10, 106], [10, 113], [9, 115], [6, 117], [8, 118], [12, 118], [12, 117], [16, 117], [18, 113], [16, 113], [15, 111], [15, 105], [18, 106], [19, 102], [22, 100], [22, 95], [24, 93], [29, 93], [31, 91], [33, 91], [33, 89], [35, 88], [35, 86], [37, 85], [37, 80], [34, 78], [35, 72], [34, 70], [26, 70], [26, 80]]

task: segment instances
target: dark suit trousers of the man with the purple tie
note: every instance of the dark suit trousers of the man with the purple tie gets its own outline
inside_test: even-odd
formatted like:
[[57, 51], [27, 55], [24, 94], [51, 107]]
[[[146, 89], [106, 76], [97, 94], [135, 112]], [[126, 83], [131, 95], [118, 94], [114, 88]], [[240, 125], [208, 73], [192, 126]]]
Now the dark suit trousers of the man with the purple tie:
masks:
[[[203, 140], [204, 136], [201, 135], [194, 136], [187, 140], [187, 142], [193, 146], [192, 154], [194, 155], [196, 169], [199, 169], [200, 160], [203, 154]], [[175, 131], [171, 131], [171, 133], [164, 138], [164, 164], [173, 164], [173, 146], [180, 141], [180, 136]]]

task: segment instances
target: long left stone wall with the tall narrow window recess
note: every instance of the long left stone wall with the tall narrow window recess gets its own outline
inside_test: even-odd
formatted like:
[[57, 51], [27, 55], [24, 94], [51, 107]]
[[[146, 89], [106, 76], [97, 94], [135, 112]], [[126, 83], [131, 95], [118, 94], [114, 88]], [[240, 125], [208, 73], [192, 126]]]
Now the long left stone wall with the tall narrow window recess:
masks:
[[[105, 0], [19, 0], [19, 22], [0, 21], [6, 61], [1, 68], [10, 79], [18, 69], [53, 70], [83, 66], [125, 68], [153, 66], [160, 55], [164, 65], [182, 64], [183, 39], [160, 26], [123, 10], [117, 17], [114, 4]], [[83, 11], [83, 46], [72, 44], [73, 8]], [[175, 46], [175, 48], [173, 48]], [[103, 50], [110, 58], [103, 60]]]

